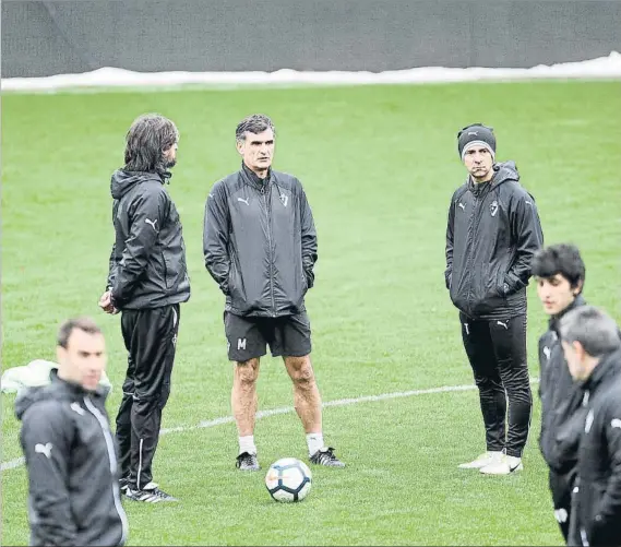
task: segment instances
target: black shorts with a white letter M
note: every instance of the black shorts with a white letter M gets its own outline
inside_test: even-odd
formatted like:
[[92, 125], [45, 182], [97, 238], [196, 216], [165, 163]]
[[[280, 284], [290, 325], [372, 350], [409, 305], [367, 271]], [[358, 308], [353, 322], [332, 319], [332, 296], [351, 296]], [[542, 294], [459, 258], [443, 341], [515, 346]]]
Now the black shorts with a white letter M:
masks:
[[243, 362], [263, 357], [303, 357], [311, 353], [310, 320], [306, 312], [279, 318], [241, 317], [224, 312], [228, 358]]

